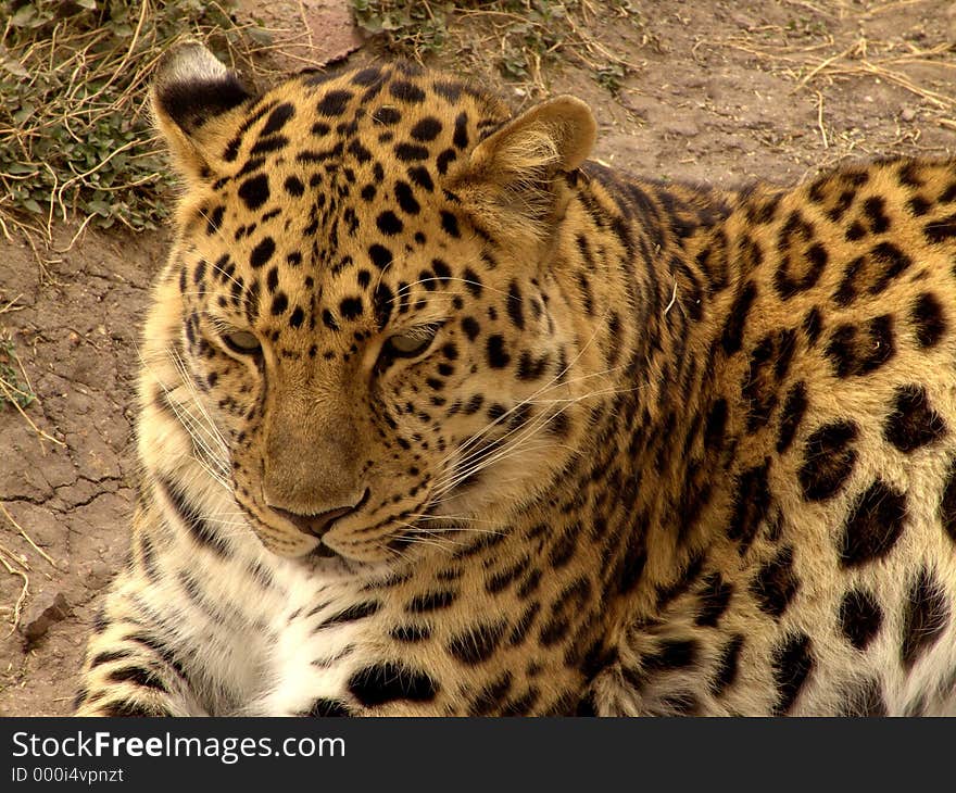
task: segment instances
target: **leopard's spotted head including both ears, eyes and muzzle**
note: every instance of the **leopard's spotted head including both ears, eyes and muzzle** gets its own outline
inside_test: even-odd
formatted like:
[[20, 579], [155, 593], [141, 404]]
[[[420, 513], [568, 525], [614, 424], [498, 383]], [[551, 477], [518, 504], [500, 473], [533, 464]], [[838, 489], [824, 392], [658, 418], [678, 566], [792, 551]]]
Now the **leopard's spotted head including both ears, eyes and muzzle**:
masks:
[[429, 521], [520, 508], [600, 387], [575, 378], [588, 339], [543, 232], [587, 108], [507, 123], [404, 65], [255, 98], [200, 48], [177, 64], [154, 97], [188, 181], [160, 314], [263, 543], [387, 563]]

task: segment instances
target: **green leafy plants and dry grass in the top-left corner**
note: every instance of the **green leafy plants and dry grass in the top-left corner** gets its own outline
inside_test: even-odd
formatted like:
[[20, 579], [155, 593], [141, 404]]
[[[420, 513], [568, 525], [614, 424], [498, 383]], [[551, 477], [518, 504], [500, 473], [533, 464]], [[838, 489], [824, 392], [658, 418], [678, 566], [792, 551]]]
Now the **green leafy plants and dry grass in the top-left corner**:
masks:
[[168, 185], [144, 102], [162, 52], [186, 34], [242, 29], [228, 3], [0, 0], [0, 231], [88, 218], [152, 228]]

